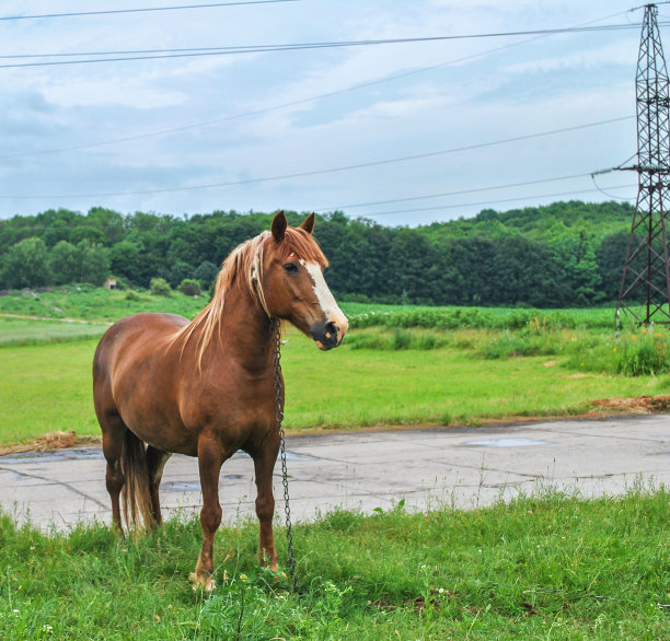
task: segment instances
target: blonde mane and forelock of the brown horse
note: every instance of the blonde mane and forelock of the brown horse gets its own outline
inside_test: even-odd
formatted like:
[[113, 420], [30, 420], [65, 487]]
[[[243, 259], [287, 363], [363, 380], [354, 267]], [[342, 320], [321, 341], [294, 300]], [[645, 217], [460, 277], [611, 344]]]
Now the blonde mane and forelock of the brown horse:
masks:
[[188, 325], [178, 329], [170, 340], [170, 345], [173, 345], [183, 339], [183, 354], [196, 329], [201, 329], [197, 346], [198, 369], [201, 368], [203, 357], [215, 337], [217, 327], [220, 327], [228, 292], [235, 282], [239, 288], [246, 288], [252, 299], [257, 299], [267, 316], [272, 318], [263, 291], [263, 263], [268, 248], [277, 252], [280, 260], [294, 255], [298, 259], [317, 263], [323, 267], [328, 264], [313, 236], [300, 228], [288, 228], [280, 243], [266, 231], [235, 247], [221, 265], [209, 304]]

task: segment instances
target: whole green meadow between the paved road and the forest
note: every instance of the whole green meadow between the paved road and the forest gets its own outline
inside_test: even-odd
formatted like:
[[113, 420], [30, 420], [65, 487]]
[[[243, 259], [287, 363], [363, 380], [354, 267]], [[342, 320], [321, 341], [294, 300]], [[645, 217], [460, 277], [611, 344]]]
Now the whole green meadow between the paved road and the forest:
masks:
[[[205, 302], [92, 288], [0, 296], [0, 314], [33, 317], [0, 316], [0, 444], [97, 435], [91, 362], [106, 323], [151, 310], [193, 317]], [[611, 310], [343, 308], [351, 330], [336, 350], [285, 334], [289, 433], [567, 417], [602, 411], [598, 399], [670, 393], [667, 331], [615, 336]]]

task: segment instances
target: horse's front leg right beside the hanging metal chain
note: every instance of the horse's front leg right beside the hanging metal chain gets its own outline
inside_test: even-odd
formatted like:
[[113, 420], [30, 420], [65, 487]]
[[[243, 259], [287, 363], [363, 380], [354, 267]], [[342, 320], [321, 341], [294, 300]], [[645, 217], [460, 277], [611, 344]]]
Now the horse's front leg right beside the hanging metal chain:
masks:
[[275, 497], [273, 494], [273, 471], [279, 452], [279, 439], [267, 439], [258, 453], [254, 454], [256, 471], [256, 516], [258, 517], [258, 563], [277, 571], [277, 551], [273, 533]]

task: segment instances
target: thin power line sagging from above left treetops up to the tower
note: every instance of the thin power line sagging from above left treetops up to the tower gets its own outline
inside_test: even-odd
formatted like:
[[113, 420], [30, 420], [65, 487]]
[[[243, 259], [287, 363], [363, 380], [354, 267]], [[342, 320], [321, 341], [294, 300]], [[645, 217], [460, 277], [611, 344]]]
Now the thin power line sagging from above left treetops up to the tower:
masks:
[[621, 123], [623, 120], [629, 120], [632, 119], [633, 116], [622, 116], [619, 118], [610, 118], [608, 120], [599, 120], [597, 123], [589, 123], [587, 125], [576, 125], [573, 127], [563, 127], [561, 129], [553, 129], [551, 131], [542, 131], [539, 133], [528, 133], [524, 136], [516, 136], [513, 138], [506, 138], [503, 140], [494, 140], [490, 142], [480, 142], [476, 144], [469, 144], [469, 145], [464, 145], [464, 147], [457, 147], [457, 148], [452, 148], [452, 149], [443, 149], [443, 150], [439, 150], [439, 151], [430, 151], [430, 152], [426, 152], [426, 153], [418, 153], [418, 154], [413, 154], [413, 155], [405, 155], [405, 156], [400, 156], [400, 158], [393, 158], [393, 159], [384, 159], [384, 160], [380, 160], [380, 161], [371, 161], [371, 162], [366, 162], [366, 163], [357, 163], [357, 164], [353, 164], [353, 165], [344, 165], [344, 166], [338, 166], [338, 167], [328, 167], [328, 168], [323, 168], [323, 170], [312, 170], [310, 172], [298, 172], [298, 173], [293, 173], [293, 174], [284, 174], [284, 175], [279, 175], [279, 176], [266, 176], [266, 177], [258, 177], [258, 178], [246, 178], [243, 180], [229, 180], [229, 182], [224, 182], [224, 183], [210, 183], [207, 185], [190, 185], [187, 187], [165, 187], [162, 189], [139, 189], [139, 190], [131, 190], [131, 191], [112, 191], [112, 193], [97, 193], [97, 194], [60, 194], [60, 195], [48, 195], [48, 196], [3, 196], [0, 195], [0, 198], [3, 199], [21, 199], [21, 200], [33, 200], [33, 199], [45, 199], [45, 198], [100, 198], [100, 197], [109, 197], [109, 196], [139, 196], [139, 195], [146, 195], [146, 194], [170, 194], [170, 193], [175, 193], [175, 191], [192, 191], [192, 190], [199, 190], [199, 189], [211, 189], [211, 188], [220, 188], [220, 187], [233, 187], [233, 186], [239, 186], [239, 185], [252, 185], [252, 184], [257, 184], [257, 183], [269, 183], [269, 182], [275, 182], [275, 180], [287, 180], [290, 178], [303, 178], [303, 177], [308, 177], [308, 176], [316, 176], [316, 175], [322, 175], [322, 174], [331, 174], [331, 173], [336, 173], [336, 172], [345, 172], [345, 171], [351, 171], [351, 170], [361, 170], [361, 168], [366, 168], [366, 167], [374, 167], [374, 166], [381, 166], [381, 165], [388, 165], [388, 164], [394, 164], [394, 163], [401, 163], [401, 162], [407, 162], [407, 161], [413, 161], [413, 160], [420, 160], [420, 159], [426, 159], [426, 158], [434, 158], [437, 155], [444, 155], [444, 154], [450, 154], [450, 153], [459, 153], [459, 152], [463, 152], [463, 151], [472, 151], [475, 149], [484, 149], [487, 147], [494, 147], [494, 145], [498, 145], [498, 144], [506, 144], [509, 142], [521, 142], [523, 140], [531, 140], [533, 138], [542, 138], [545, 136], [554, 136], [556, 133], [566, 133], [568, 131], [579, 131], [581, 129], [588, 129], [590, 127], [598, 127], [601, 125], [610, 125], [612, 123]]

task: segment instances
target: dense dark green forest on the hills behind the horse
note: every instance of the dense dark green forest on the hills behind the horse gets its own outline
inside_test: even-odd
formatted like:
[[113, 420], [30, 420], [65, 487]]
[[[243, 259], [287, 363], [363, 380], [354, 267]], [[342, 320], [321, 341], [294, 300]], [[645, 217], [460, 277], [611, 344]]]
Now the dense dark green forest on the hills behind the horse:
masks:
[[[385, 226], [340, 211], [314, 235], [340, 299], [436, 305], [575, 307], [619, 294], [634, 208], [555, 202], [430, 225]], [[305, 213], [288, 212], [290, 224]], [[239, 243], [269, 229], [273, 213], [192, 217], [50, 209], [0, 220], [0, 290], [102, 284], [147, 288], [163, 278], [210, 288]]]

